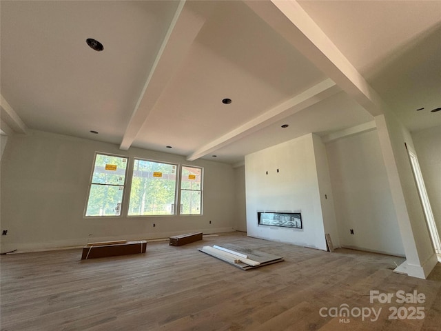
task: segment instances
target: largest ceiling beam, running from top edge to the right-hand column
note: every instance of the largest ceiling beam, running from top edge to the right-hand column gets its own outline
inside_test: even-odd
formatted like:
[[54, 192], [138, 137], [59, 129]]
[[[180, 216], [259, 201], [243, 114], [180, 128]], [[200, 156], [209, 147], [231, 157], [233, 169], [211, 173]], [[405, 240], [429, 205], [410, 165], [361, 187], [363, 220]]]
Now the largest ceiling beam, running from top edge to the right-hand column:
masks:
[[261, 19], [373, 116], [384, 103], [360, 72], [295, 0], [245, 1]]

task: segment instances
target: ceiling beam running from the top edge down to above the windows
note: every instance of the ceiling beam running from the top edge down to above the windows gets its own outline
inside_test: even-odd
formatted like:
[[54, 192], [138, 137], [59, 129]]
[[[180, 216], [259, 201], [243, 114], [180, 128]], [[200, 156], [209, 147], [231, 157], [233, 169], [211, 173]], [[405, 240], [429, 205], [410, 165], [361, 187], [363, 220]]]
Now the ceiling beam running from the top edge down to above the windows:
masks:
[[178, 70], [205, 19], [195, 14], [181, 0], [156, 55], [150, 74], [132, 112], [119, 148], [128, 150], [161, 96], [170, 78]]

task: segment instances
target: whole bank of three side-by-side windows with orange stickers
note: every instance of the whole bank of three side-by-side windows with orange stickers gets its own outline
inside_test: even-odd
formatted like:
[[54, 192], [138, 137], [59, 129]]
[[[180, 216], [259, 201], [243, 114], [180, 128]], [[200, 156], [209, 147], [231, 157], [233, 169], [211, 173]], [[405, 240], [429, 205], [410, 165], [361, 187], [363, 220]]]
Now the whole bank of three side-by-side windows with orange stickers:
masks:
[[181, 167], [180, 196], [178, 164], [134, 159], [130, 193], [125, 193], [127, 169], [128, 157], [95, 154], [86, 217], [121, 216], [123, 209], [127, 216], [202, 214], [203, 168]]

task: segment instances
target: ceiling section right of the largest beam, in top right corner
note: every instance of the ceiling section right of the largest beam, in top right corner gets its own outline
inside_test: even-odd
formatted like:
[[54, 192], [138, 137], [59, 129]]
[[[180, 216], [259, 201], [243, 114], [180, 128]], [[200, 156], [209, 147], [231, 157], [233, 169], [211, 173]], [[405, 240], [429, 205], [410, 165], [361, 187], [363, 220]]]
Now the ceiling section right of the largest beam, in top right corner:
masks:
[[441, 124], [441, 1], [299, 2], [409, 130]]

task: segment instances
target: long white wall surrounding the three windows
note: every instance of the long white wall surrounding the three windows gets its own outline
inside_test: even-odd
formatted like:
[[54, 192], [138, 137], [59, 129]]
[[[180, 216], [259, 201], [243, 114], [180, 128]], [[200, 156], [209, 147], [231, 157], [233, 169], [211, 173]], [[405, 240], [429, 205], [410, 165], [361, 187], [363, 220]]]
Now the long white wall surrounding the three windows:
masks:
[[[204, 167], [202, 216], [84, 218], [95, 152]], [[173, 154], [47, 132], [14, 134], [1, 159], [1, 251], [83, 245], [89, 241], [154, 239], [234, 230], [234, 170], [225, 163], [185, 161]], [[212, 224], [209, 224], [212, 221]], [[156, 223], [156, 227], [153, 227]]]

